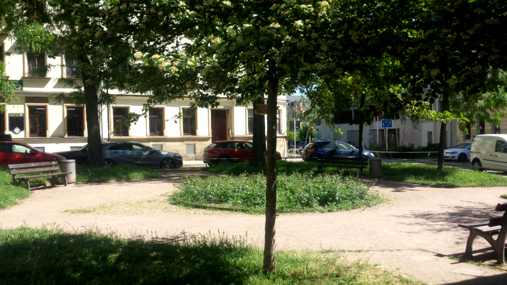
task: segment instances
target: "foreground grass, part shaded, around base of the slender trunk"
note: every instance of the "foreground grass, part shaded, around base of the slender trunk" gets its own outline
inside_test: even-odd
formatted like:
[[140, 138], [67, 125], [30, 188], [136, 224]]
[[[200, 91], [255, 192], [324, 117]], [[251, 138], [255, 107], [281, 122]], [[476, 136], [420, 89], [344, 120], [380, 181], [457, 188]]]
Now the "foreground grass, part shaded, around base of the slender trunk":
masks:
[[0, 229], [5, 284], [422, 284], [333, 251], [277, 251], [276, 272], [262, 273], [263, 252], [223, 235], [134, 241], [114, 232]]

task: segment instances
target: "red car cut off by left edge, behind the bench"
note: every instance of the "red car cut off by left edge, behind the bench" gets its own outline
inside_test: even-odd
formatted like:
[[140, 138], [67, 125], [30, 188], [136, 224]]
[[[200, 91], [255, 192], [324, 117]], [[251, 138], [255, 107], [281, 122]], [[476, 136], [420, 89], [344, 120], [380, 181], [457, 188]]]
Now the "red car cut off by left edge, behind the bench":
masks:
[[0, 165], [45, 161], [57, 161], [60, 164], [63, 159], [65, 157], [61, 155], [41, 152], [24, 143], [0, 141]]

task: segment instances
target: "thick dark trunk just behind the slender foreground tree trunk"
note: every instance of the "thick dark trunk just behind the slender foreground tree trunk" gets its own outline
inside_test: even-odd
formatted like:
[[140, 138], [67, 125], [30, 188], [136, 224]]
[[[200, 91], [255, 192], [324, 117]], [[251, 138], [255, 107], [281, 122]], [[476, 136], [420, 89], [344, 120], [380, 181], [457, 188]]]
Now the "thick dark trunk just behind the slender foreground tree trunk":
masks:
[[257, 107], [255, 104], [264, 104], [264, 94], [253, 101], [253, 139], [252, 139], [252, 161], [253, 167], [262, 167], [266, 165], [266, 124], [264, 115], [256, 115]]

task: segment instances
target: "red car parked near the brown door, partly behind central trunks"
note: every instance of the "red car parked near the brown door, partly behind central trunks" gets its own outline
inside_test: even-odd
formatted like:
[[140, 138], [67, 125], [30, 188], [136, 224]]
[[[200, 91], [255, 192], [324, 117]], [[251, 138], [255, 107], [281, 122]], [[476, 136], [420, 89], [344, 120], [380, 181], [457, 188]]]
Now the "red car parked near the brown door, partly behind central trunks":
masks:
[[[276, 158], [282, 156], [277, 151]], [[202, 160], [206, 164], [251, 160], [252, 143], [249, 141], [219, 141], [204, 148]]]

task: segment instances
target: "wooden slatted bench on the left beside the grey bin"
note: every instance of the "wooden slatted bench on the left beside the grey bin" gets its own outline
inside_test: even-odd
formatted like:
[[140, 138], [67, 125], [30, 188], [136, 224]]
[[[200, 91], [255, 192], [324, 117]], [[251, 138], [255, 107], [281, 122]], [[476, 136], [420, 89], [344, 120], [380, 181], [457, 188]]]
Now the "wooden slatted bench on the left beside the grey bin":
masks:
[[[26, 182], [26, 187], [30, 190], [30, 182], [28, 180], [32, 178], [40, 178], [40, 177], [53, 177], [51, 180], [51, 185], [56, 185], [56, 179], [61, 177], [62, 184], [67, 186], [67, 177], [66, 175], [71, 172], [59, 172], [60, 166], [57, 161], [46, 161], [46, 162], [30, 162], [27, 164], [13, 164], [8, 165], [12, 179], [14, 179], [15, 185], [20, 185], [22, 181]], [[37, 172], [51, 172], [39, 175], [31, 175], [31, 176], [22, 176], [18, 177], [19, 174], [28, 174], [28, 173], [37, 173]]]

